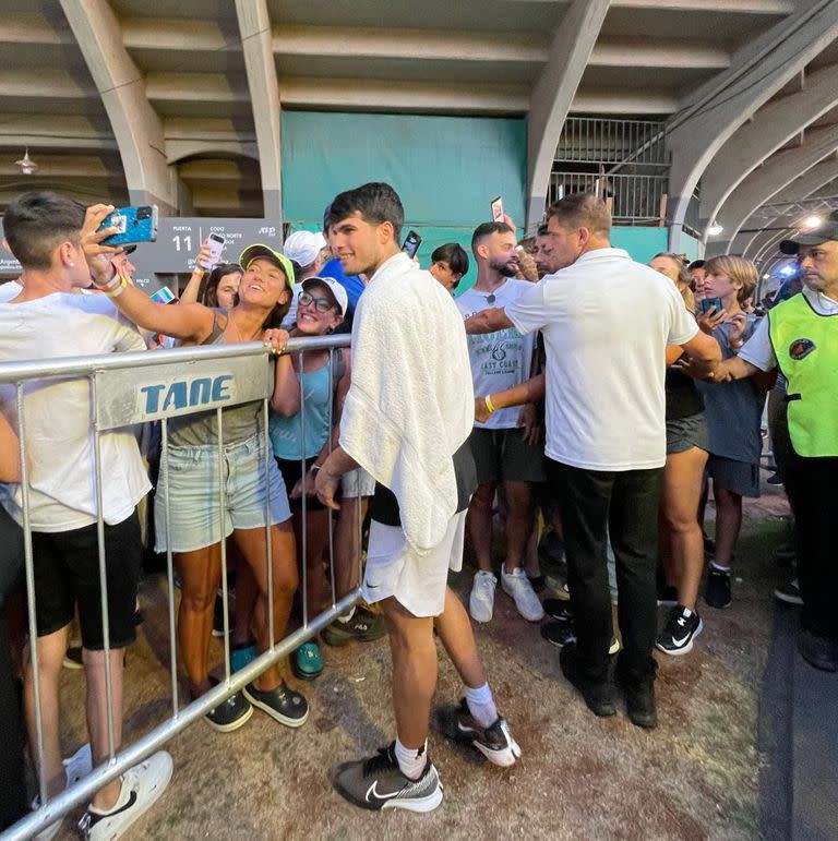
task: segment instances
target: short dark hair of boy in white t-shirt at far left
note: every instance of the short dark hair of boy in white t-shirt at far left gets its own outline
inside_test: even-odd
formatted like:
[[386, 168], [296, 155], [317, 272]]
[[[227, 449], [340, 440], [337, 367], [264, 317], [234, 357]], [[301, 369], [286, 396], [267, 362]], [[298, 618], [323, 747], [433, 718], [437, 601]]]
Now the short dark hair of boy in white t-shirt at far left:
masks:
[[24, 268], [46, 271], [61, 242], [79, 244], [84, 214], [84, 205], [72, 199], [33, 190], [19, 195], [7, 208], [3, 236]]

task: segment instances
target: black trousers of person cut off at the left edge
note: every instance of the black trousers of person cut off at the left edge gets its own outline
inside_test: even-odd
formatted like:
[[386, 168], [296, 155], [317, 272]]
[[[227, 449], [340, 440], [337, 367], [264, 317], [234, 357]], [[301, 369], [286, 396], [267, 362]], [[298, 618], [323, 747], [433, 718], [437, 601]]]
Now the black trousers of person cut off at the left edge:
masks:
[[0, 507], [0, 831], [27, 812], [21, 698], [2, 610], [4, 598], [20, 584], [22, 568], [23, 534]]

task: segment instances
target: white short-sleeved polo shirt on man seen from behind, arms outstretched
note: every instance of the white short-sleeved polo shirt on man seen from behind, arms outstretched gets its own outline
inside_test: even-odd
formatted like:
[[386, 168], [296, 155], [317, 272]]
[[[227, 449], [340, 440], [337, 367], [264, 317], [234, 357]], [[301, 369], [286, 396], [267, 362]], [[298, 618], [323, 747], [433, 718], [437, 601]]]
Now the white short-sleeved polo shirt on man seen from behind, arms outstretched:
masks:
[[666, 461], [667, 345], [698, 332], [675, 285], [622, 249], [597, 249], [510, 304], [547, 348], [547, 455], [588, 470]]

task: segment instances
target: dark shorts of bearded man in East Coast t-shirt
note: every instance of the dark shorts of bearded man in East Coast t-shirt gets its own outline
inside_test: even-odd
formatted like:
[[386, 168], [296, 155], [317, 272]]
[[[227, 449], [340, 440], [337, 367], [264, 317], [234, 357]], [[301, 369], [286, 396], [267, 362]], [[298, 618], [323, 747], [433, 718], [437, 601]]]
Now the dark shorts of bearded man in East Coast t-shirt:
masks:
[[478, 484], [547, 481], [543, 444], [524, 441], [524, 430], [486, 430], [475, 426], [468, 438]]

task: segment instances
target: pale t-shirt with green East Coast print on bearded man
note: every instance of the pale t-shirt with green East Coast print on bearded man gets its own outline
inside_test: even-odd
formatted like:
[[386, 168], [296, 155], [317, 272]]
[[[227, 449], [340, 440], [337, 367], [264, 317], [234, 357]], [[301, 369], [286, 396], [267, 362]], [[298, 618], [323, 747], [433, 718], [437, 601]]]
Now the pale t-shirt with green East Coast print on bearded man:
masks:
[[[494, 292], [469, 289], [454, 299], [464, 319], [492, 307], [507, 307], [530, 289], [532, 284], [510, 277]], [[489, 298], [494, 296], [492, 302]], [[468, 337], [468, 357], [475, 395], [484, 397], [520, 385], [529, 379], [536, 334], [523, 336], [515, 327]], [[498, 409], [486, 423], [475, 426], [490, 430], [513, 429], [518, 425], [519, 406]]]

